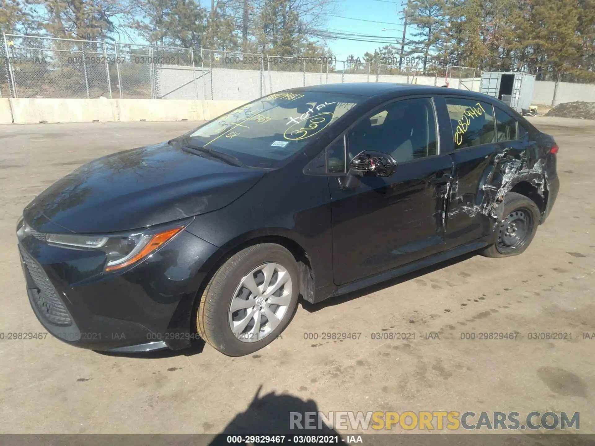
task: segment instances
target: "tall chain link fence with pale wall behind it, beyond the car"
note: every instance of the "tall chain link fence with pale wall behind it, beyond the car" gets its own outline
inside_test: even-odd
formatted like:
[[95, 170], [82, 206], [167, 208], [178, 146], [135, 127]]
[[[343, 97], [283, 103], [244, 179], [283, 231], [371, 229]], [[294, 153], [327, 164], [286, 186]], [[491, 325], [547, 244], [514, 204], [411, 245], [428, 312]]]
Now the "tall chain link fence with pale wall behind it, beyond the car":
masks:
[[383, 65], [173, 46], [2, 34], [0, 95], [12, 98], [253, 100], [292, 87], [393, 82], [478, 88], [468, 67]]

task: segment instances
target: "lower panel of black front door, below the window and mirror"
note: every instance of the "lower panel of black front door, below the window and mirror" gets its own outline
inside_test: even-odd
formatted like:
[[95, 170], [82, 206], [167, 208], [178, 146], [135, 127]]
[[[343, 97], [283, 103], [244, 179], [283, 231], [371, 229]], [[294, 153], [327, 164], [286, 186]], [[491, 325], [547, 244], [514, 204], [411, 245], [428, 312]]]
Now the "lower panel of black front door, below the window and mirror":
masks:
[[452, 159], [438, 155], [401, 164], [388, 178], [364, 177], [342, 189], [329, 177], [333, 275], [337, 285], [441, 252], [444, 197]]

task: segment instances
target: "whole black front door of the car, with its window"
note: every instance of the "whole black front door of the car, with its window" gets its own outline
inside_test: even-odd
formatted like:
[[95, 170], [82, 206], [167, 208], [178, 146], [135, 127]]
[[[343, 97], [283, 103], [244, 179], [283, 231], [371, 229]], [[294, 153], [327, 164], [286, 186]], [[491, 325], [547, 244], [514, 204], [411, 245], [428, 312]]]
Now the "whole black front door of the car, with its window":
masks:
[[345, 175], [328, 177], [335, 284], [443, 250], [444, 200], [452, 160], [439, 153], [433, 99], [386, 103], [359, 120], [347, 130], [345, 139], [336, 140], [327, 150], [333, 156], [342, 153], [344, 141], [347, 169], [362, 150], [389, 153], [397, 167], [390, 177], [361, 177], [361, 184], [350, 189], [344, 187]]

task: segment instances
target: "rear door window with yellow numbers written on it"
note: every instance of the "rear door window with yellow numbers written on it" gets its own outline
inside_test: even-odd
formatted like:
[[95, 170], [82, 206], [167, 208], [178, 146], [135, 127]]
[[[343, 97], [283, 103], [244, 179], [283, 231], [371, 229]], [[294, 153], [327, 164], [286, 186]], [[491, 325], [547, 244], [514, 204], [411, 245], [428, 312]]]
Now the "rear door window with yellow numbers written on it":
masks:
[[496, 142], [494, 111], [490, 104], [473, 99], [445, 99], [455, 149]]

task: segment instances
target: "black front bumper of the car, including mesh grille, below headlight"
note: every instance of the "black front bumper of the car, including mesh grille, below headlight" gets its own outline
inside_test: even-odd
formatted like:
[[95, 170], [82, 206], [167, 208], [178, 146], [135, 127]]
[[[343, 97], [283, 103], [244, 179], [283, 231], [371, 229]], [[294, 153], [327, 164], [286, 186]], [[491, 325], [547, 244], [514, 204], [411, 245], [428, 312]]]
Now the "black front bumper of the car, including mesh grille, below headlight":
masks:
[[104, 255], [55, 247], [28, 235], [19, 245], [27, 294], [39, 322], [68, 344], [121, 352], [189, 347], [196, 293], [217, 248], [181, 231], [118, 273]]

